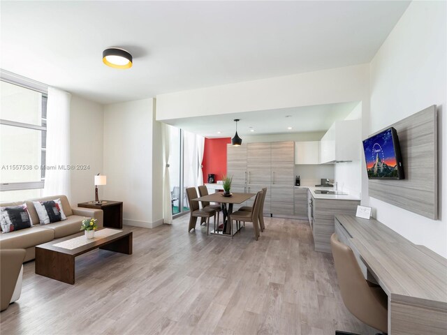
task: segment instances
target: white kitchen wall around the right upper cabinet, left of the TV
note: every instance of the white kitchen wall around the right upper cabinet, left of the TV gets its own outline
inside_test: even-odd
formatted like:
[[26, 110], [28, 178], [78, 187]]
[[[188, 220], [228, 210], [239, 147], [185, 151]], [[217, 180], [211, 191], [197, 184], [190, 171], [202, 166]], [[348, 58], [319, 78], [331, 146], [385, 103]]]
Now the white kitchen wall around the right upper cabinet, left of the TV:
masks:
[[[362, 119], [362, 103], [359, 103], [351, 113], [345, 118], [346, 120]], [[361, 138], [356, 139], [358, 142], [358, 152], [362, 151]], [[363, 157], [363, 156], [359, 156]], [[362, 193], [362, 168], [365, 162], [358, 161], [337, 163], [335, 164], [335, 181], [338, 183], [339, 191], [349, 193], [350, 195], [361, 197]], [[365, 176], [367, 179], [366, 168]], [[364, 179], [365, 180], [365, 179]], [[367, 184], [365, 184], [367, 187]]]

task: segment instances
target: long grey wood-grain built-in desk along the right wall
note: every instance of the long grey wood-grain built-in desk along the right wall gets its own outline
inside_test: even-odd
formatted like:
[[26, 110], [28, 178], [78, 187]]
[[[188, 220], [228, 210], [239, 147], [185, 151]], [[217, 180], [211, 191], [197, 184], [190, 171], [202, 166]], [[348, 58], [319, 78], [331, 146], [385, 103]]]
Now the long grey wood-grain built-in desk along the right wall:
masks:
[[365, 278], [388, 295], [388, 334], [447, 334], [447, 260], [374, 218], [335, 216]]

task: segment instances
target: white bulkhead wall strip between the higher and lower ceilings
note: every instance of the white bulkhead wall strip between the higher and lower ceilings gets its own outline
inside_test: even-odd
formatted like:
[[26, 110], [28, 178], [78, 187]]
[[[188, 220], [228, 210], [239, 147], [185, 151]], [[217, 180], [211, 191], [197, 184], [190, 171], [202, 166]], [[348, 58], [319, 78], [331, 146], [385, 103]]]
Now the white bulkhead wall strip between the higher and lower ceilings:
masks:
[[156, 119], [364, 101], [368, 78], [369, 67], [362, 64], [161, 94], [156, 96]]

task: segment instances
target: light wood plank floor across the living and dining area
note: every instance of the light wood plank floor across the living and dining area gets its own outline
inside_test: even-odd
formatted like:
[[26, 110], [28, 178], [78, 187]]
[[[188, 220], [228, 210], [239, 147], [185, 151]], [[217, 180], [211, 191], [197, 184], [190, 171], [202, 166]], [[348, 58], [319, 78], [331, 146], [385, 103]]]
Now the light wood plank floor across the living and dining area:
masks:
[[6, 334], [374, 334], [340, 297], [332, 255], [305, 221], [265, 218], [254, 240], [186, 232], [188, 216], [133, 230], [133, 255], [76, 258], [76, 283], [24, 265], [22, 297], [0, 314]]

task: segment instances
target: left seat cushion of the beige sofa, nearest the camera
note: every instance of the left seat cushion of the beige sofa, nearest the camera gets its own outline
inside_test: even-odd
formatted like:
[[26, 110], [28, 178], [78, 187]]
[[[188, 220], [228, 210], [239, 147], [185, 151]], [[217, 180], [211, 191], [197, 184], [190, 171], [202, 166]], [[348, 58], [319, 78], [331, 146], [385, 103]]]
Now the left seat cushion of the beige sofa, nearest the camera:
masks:
[[8, 234], [0, 234], [1, 249], [29, 248], [47, 243], [54, 239], [54, 230], [34, 225], [31, 228], [17, 230]]

